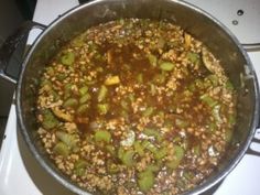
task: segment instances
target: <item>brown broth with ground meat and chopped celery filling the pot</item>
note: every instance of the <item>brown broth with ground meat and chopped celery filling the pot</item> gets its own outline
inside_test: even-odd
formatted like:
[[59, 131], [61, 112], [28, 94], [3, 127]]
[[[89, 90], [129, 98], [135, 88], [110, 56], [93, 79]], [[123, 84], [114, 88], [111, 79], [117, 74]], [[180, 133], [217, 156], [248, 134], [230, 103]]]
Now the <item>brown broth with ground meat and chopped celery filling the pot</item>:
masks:
[[205, 45], [166, 21], [124, 19], [88, 29], [47, 64], [37, 132], [87, 192], [175, 195], [214, 172], [235, 108]]

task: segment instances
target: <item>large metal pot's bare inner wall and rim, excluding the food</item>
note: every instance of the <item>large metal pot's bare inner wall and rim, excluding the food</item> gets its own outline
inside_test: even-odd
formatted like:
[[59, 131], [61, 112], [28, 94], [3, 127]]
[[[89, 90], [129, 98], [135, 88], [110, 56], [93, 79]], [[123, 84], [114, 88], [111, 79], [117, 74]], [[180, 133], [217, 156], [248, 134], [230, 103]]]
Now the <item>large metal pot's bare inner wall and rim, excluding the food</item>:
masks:
[[[87, 194], [61, 173], [47, 158], [36, 136], [35, 98], [44, 65], [65, 42], [91, 25], [120, 18], [167, 19], [201, 40], [221, 61], [238, 91], [235, 134], [225, 160], [204, 183], [184, 194], [201, 194], [218, 184], [238, 164], [253, 138], [259, 120], [259, 88], [249, 57], [237, 39], [216, 19], [183, 1], [98, 0], [61, 15], [36, 39], [25, 55], [17, 87], [19, 124], [37, 162], [59, 183], [77, 194]], [[7, 79], [10, 77], [1, 73]]]

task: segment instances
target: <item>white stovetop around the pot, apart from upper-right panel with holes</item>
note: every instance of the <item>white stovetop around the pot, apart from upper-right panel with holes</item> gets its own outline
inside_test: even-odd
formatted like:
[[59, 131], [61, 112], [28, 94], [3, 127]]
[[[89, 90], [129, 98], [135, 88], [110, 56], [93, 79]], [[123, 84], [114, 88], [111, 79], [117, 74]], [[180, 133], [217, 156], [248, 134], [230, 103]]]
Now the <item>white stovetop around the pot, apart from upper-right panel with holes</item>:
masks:
[[[77, 0], [39, 0], [34, 21], [48, 24], [64, 11], [78, 4]], [[44, 17], [42, 17], [44, 15]], [[39, 32], [32, 32], [32, 43]], [[260, 80], [260, 51], [250, 52]], [[260, 137], [260, 130], [256, 137]], [[260, 144], [252, 143], [260, 151]], [[226, 177], [214, 195], [259, 195], [260, 155], [246, 154], [235, 170]], [[17, 127], [15, 106], [10, 109], [0, 152], [0, 194], [1, 195], [72, 195], [36, 163], [29, 152]]]

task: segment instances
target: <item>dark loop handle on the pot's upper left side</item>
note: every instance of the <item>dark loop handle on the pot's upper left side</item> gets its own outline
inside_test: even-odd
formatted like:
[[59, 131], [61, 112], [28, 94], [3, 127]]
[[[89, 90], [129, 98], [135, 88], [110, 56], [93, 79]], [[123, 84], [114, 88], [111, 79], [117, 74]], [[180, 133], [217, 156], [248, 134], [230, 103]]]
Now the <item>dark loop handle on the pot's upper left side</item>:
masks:
[[0, 47], [0, 77], [3, 79], [17, 84], [18, 78], [8, 73], [8, 66], [10, 58], [21, 41], [26, 39], [30, 31], [33, 29], [45, 30], [46, 25], [37, 22], [26, 21], [19, 26], [12, 35], [10, 35]]

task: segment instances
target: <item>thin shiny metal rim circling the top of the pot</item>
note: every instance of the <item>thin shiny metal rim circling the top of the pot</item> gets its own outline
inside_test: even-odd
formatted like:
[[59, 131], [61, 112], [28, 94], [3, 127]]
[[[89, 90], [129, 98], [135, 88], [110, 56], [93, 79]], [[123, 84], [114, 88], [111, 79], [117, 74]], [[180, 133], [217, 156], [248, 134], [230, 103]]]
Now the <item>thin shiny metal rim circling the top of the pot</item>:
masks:
[[[118, 1], [118, 0], [116, 0], [116, 1]], [[248, 66], [252, 72], [253, 87], [254, 87], [254, 91], [256, 91], [254, 93], [256, 102], [254, 102], [253, 118], [251, 120], [251, 126], [250, 126], [251, 127], [250, 133], [247, 137], [247, 140], [245, 141], [245, 144], [239, 145], [239, 150], [238, 150], [239, 152], [237, 153], [236, 158], [234, 158], [231, 160], [231, 162], [228, 164], [228, 166], [225, 166], [221, 170], [221, 172], [219, 172], [216, 175], [214, 175], [213, 177], [210, 177], [210, 180], [206, 178], [205, 182], [203, 182], [201, 185], [194, 187], [191, 191], [187, 191], [187, 192], [183, 193], [182, 195], [201, 194], [201, 193], [204, 193], [204, 192], [208, 191], [209, 188], [212, 188], [213, 186], [215, 186], [219, 182], [221, 182], [236, 167], [236, 165], [240, 162], [240, 160], [242, 159], [242, 156], [247, 152], [247, 150], [248, 150], [248, 148], [251, 143], [251, 140], [254, 136], [254, 130], [256, 130], [256, 128], [258, 126], [258, 122], [259, 122], [259, 102], [258, 102], [258, 99], [259, 99], [259, 85], [258, 85], [258, 82], [257, 82], [257, 76], [256, 76], [253, 66], [250, 62], [250, 58], [249, 58], [247, 52], [245, 51], [242, 45], [239, 43], [237, 37], [231, 33], [231, 31], [229, 29], [227, 29], [216, 18], [214, 18], [213, 15], [207, 13], [206, 11], [202, 10], [201, 8], [197, 8], [196, 6], [193, 6], [188, 2], [181, 1], [181, 0], [165, 0], [165, 1], [174, 2], [174, 3], [181, 4], [183, 7], [186, 7], [191, 10], [194, 10], [194, 11], [198, 12], [199, 14], [204, 15], [205, 18], [208, 18], [209, 20], [212, 20], [215, 24], [217, 24], [231, 39], [231, 41], [237, 45], [237, 47], [239, 48], [240, 54], [245, 57], [245, 59], [247, 62], [247, 64], [245, 66]], [[89, 7], [89, 6], [93, 6], [93, 4], [96, 4], [96, 3], [106, 3], [106, 2], [108, 2], [108, 1], [107, 0], [91, 0], [87, 3], [85, 3], [85, 4], [79, 4], [75, 8], [66, 11], [65, 13], [59, 15], [57, 19], [55, 19], [50, 25], [47, 25], [47, 28], [36, 37], [34, 43], [32, 44], [29, 53], [25, 55], [24, 61], [22, 63], [22, 69], [21, 69], [21, 73], [20, 73], [18, 86], [17, 86], [15, 101], [17, 101], [18, 122], [19, 122], [20, 129], [22, 131], [23, 139], [25, 140], [25, 142], [26, 142], [29, 149], [31, 150], [31, 152], [33, 153], [34, 158], [41, 164], [41, 166], [44, 170], [47, 171], [47, 173], [50, 175], [52, 175], [53, 177], [56, 178], [56, 181], [58, 183], [61, 183], [65, 187], [69, 188], [74, 193], [85, 194], [85, 195], [87, 195], [89, 193], [84, 191], [83, 188], [80, 188], [76, 184], [73, 184], [72, 181], [66, 180], [62, 174], [57, 173], [54, 169], [48, 166], [47, 163], [45, 162], [45, 160], [43, 160], [43, 158], [40, 154], [36, 147], [33, 144], [33, 140], [30, 139], [29, 132], [26, 131], [26, 127], [25, 127], [25, 123], [24, 123], [23, 115], [22, 115], [21, 89], [22, 89], [22, 83], [23, 83], [23, 75], [24, 75], [24, 72], [26, 69], [26, 64], [28, 64], [28, 62], [30, 59], [30, 56], [32, 55], [35, 46], [41, 42], [41, 39], [45, 34], [47, 34], [48, 31], [51, 31], [53, 29], [53, 26], [55, 26], [57, 23], [62, 22], [63, 19], [65, 19], [66, 17], [77, 12], [78, 10], [85, 9], [86, 7]]]

